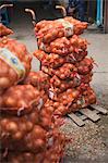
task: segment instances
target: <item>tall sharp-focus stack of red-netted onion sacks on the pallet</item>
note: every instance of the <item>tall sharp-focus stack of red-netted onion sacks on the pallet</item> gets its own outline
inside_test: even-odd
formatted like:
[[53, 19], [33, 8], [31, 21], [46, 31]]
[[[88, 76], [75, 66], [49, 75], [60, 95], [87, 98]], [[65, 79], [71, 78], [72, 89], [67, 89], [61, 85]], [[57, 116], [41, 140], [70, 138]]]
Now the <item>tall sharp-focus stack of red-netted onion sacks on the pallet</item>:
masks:
[[56, 115], [65, 115], [96, 102], [89, 86], [94, 61], [86, 57], [86, 39], [79, 37], [86, 28], [87, 23], [73, 17], [36, 24], [39, 50], [34, 55], [50, 78], [49, 98]]

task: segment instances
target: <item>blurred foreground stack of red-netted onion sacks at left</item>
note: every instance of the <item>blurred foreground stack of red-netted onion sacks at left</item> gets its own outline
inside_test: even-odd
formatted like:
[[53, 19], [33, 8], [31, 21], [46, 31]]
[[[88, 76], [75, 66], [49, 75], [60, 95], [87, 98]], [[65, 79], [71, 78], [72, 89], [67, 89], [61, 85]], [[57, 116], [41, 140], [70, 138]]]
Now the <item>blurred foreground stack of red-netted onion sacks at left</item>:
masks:
[[24, 45], [0, 38], [0, 162], [59, 163], [65, 139], [46, 93], [49, 76], [31, 72], [31, 61]]

